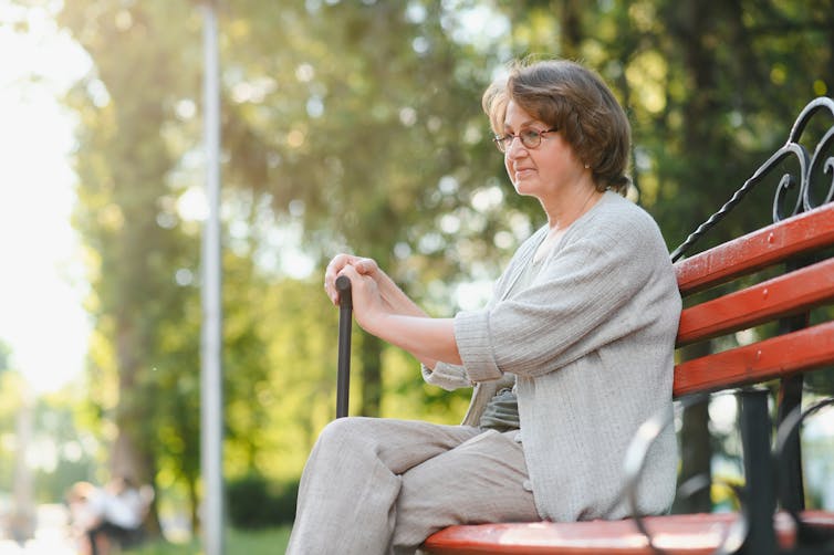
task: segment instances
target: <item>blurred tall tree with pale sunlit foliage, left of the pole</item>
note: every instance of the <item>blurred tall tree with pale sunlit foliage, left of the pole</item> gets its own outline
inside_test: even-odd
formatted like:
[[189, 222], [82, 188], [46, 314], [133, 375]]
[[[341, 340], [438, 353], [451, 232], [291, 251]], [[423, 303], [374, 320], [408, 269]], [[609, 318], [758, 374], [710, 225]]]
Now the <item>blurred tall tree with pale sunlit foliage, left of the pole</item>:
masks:
[[[169, 180], [181, 147], [178, 151], [176, 133], [166, 136], [164, 125], [175, 118], [196, 72], [181, 70], [190, 66], [180, 61], [189, 51], [180, 50], [181, 34], [159, 27], [164, 14], [177, 14], [177, 21], [189, 15], [179, 3], [107, 1], [74, 2], [61, 13], [61, 23], [95, 62], [95, 74], [67, 98], [82, 122], [74, 223], [92, 262], [96, 343], [91, 377], [98, 385], [93, 401], [115, 423], [111, 472], [152, 483], [154, 425], [169, 407], [157, 395], [159, 376], [197, 366], [196, 359], [164, 366], [173, 356], [164, 332], [178, 327], [174, 323], [181, 322], [195, 295], [194, 287], [177, 286], [177, 272], [194, 268], [197, 250], [196, 238], [178, 226]], [[197, 353], [192, 345], [185, 349]], [[163, 373], [156, 371], [160, 367]]]

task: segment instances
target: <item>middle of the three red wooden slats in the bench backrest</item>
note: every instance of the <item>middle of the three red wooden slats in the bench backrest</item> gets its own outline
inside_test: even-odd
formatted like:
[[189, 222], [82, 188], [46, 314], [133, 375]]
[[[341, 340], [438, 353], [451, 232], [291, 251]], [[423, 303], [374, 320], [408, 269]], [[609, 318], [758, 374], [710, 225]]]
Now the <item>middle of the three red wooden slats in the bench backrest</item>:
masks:
[[834, 259], [684, 310], [678, 346], [800, 314], [834, 300]]

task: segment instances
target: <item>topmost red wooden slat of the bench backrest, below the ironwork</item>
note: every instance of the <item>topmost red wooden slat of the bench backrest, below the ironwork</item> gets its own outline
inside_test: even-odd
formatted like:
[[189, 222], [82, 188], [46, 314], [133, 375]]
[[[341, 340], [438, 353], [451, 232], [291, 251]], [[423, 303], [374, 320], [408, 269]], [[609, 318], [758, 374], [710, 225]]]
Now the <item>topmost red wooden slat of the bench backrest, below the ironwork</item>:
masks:
[[786, 258], [834, 244], [834, 203], [733, 239], [675, 264], [688, 295]]

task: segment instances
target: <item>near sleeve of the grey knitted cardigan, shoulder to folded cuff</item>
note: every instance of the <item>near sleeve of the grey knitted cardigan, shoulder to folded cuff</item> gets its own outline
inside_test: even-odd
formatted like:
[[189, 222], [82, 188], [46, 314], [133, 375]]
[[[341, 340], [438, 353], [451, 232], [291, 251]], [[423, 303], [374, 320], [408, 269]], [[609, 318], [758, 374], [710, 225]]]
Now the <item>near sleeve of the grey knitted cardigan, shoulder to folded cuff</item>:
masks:
[[613, 219], [591, 229], [565, 237], [524, 291], [456, 315], [458, 350], [471, 380], [556, 370], [648, 325], [657, 317], [651, 300], [677, 294], [659, 231], [645, 220]]

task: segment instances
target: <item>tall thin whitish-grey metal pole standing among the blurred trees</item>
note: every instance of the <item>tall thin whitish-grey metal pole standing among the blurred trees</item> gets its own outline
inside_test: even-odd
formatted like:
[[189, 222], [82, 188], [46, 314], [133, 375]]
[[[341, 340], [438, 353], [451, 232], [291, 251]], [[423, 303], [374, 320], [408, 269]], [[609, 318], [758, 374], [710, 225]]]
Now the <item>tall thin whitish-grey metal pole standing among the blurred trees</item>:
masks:
[[222, 474], [222, 305], [220, 261], [220, 93], [217, 14], [207, 0], [204, 11], [204, 136], [208, 214], [202, 235], [202, 356], [200, 421], [204, 483], [202, 540], [206, 555], [223, 554]]

